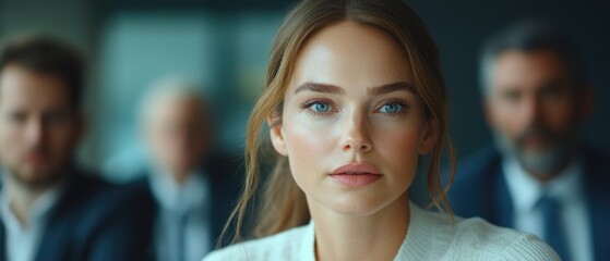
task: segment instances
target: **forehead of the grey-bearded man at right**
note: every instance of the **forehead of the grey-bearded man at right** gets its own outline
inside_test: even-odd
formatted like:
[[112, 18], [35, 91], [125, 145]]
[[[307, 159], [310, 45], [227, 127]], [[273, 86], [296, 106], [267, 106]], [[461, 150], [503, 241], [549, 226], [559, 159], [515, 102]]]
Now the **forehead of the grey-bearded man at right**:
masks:
[[565, 62], [552, 50], [505, 51], [495, 60], [492, 75], [494, 88], [535, 88], [570, 79]]

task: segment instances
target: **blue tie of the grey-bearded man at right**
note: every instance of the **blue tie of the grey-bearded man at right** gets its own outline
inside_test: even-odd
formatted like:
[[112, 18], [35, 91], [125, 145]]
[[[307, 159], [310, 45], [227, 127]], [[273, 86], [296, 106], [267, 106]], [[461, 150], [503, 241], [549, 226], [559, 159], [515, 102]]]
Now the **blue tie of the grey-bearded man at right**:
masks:
[[553, 197], [545, 194], [538, 201], [538, 208], [542, 211], [545, 221], [545, 240], [561, 257], [562, 260], [570, 260], [565, 229], [561, 219], [561, 203]]

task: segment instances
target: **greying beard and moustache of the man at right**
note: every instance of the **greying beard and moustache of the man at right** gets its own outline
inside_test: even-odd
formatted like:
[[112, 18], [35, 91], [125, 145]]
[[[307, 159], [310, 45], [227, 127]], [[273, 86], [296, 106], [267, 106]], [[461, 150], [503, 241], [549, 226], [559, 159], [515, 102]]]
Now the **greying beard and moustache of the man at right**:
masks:
[[[525, 139], [530, 135], [539, 135], [549, 140], [548, 147], [541, 149], [525, 149]], [[560, 135], [540, 125], [531, 125], [511, 139], [502, 133], [494, 132], [498, 148], [505, 157], [515, 158], [527, 172], [550, 177], [563, 167], [576, 149], [575, 135]]]

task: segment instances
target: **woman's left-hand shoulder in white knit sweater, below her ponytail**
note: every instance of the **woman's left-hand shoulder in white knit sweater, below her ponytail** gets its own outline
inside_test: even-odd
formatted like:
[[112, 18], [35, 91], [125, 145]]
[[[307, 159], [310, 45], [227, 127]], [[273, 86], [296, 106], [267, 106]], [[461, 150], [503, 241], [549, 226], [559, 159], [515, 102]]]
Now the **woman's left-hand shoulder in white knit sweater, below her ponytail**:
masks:
[[295, 260], [308, 226], [295, 227], [273, 236], [252, 239], [212, 251], [203, 261]]

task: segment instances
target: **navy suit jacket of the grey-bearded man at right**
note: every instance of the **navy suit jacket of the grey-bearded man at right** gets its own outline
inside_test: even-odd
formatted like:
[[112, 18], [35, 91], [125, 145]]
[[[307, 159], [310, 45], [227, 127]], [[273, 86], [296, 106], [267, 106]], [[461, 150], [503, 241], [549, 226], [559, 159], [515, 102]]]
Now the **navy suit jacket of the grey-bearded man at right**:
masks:
[[[610, 161], [598, 151], [584, 153], [584, 190], [589, 209], [595, 260], [610, 260]], [[502, 171], [502, 158], [486, 148], [459, 161], [450, 190], [454, 212], [464, 217], [480, 216], [488, 222], [514, 227], [513, 203]]]

